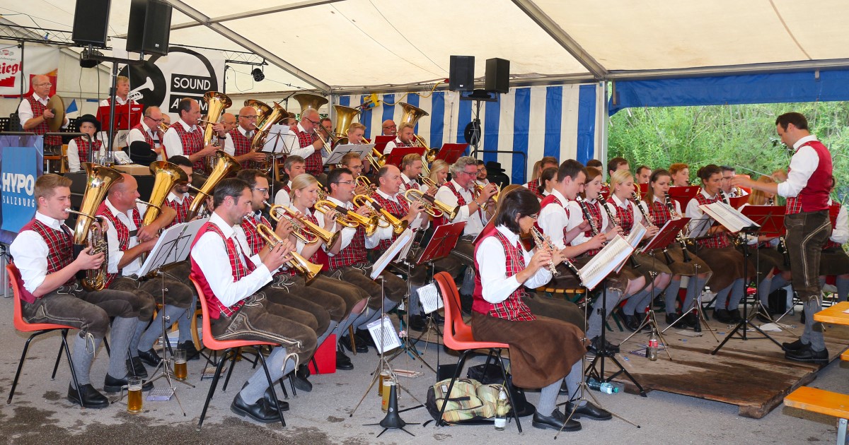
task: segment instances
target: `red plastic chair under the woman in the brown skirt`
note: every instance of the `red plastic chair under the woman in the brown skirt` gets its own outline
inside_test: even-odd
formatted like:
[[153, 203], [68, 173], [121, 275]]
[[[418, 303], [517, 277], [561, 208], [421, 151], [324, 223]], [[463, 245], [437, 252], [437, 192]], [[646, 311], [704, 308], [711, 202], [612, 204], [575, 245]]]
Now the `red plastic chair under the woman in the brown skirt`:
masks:
[[[501, 375], [504, 378], [504, 383], [507, 386], [507, 397], [510, 401], [510, 410], [513, 413], [513, 418], [516, 420], [516, 427], [519, 432], [522, 432], [522, 425], [519, 421], [519, 414], [516, 410], [516, 405], [513, 403], [513, 385], [507, 378], [506, 367], [504, 360], [501, 357], [501, 350], [508, 349], [507, 343], [498, 342], [478, 342], [472, 337], [472, 328], [463, 320], [463, 315], [460, 314], [460, 293], [457, 291], [457, 285], [447, 272], [440, 272], [433, 277], [436, 284], [439, 286], [442, 294], [442, 303], [445, 305], [445, 327], [443, 331], [443, 340], [445, 346], [452, 348], [460, 353], [460, 358], [457, 361], [457, 369], [454, 370], [454, 375], [451, 378], [451, 383], [448, 384], [447, 394], [451, 394], [454, 387], [454, 381], [463, 370], [463, 365], [469, 357], [469, 353], [475, 353], [476, 349], [489, 349], [490, 356], [494, 355], [498, 359], [498, 365], [501, 367]], [[487, 364], [489, 359], [486, 360]], [[442, 408], [439, 410], [439, 419], [436, 420], [436, 425], [447, 425], [445, 420], [442, 420], [442, 414], [445, 413], [447, 403], [442, 403]]]

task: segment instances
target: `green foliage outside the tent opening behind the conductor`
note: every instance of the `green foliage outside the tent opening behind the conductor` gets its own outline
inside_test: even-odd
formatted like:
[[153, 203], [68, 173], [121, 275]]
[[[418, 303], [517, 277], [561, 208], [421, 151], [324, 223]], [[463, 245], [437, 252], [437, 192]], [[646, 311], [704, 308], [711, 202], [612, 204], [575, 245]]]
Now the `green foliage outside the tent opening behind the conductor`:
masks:
[[[610, 117], [608, 159], [622, 156], [632, 170], [640, 164], [668, 169], [690, 165], [691, 180], [706, 164], [737, 166], [737, 173], [757, 177], [785, 169], [790, 154], [775, 133], [775, 118], [805, 114], [812, 134], [831, 151], [836, 195], [849, 195], [849, 102], [766, 103], [670, 108], [626, 108]], [[741, 168], [742, 167], [742, 168]]]

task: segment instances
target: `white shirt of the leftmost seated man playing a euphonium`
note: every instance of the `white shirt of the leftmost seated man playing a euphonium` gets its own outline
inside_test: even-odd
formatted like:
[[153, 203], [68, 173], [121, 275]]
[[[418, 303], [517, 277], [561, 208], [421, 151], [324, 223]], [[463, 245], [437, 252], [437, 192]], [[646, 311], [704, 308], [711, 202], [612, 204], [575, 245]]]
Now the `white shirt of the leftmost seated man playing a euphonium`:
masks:
[[[62, 227], [65, 226], [65, 230], [72, 233], [70, 228], [65, 225], [64, 220], [54, 220], [39, 212], [36, 212], [36, 220], [57, 231], [62, 230]], [[48, 275], [48, 254], [50, 253], [48, 243], [36, 231], [22, 231], [18, 236], [15, 236], [12, 245], [9, 247], [9, 253], [12, 253], [14, 265], [18, 266], [18, 270], [20, 270], [20, 278], [24, 281], [24, 288], [30, 293], [36, 292], [38, 286], [42, 285], [44, 278]]]

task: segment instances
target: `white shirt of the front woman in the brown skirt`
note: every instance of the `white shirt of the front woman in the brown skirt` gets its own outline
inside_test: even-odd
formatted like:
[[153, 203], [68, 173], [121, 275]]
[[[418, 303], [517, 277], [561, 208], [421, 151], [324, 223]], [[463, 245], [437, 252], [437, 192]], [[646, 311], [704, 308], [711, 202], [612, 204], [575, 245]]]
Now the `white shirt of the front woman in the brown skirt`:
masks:
[[[502, 233], [509, 242], [516, 244], [519, 242], [519, 235], [509, 231], [503, 225], [498, 225], [496, 230]], [[525, 257], [525, 266], [531, 263], [533, 252], [528, 252], [522, 248], [522, 253]], [[520, 283], [516, 280], [516, 275], [507, 276], [507, 253], [501, 242], [495, 236], [486, 236], [475, 252], [475, 261], [478, 264], [479, 272], [481, 273], [481, 292], [483, 299], [487, 302], [495, 304], [506, 300], [519, 286]], [[548, 268], [541, 267], [537, 273], [525, 281], [524, 286], [531, 289], [543, 286], [548, 281], [551, 281], [551, 272]]]

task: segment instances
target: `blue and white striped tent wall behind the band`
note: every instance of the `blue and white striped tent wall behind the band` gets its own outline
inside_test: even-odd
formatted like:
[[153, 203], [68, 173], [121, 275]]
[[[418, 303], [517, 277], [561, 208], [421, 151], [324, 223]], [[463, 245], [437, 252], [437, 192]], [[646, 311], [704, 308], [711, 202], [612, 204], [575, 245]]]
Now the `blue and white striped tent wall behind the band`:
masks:
[[[465, 142], [463, 131], [473, 119], [475, 103], [460, 100], [458, 92], [383, 94], [380, 106], [366, 110], [360, 122], [366, 125], [366, 137], [380, 134], [383, 120], [398, 120], [401, 107], [386, 103], [406, 102], [424, 109], [416, 134], [427, 139], [430, 147], [446, 142]], [[334, 103], [356, 107], [367, 95], [334, 97]], [[511, 88], [500, 94], [498, 102], [481, 104], [482, 142], [479, 159], [498, 161], [513, 183], [524, 183], [533, 164], [543, 156], [561, 161], [577, 159], [582, 163], [600, 153], [604, 119], [604, 88], [600, 84], [529, 86]], [[516, 153], [487, 153], [489, 151]]]

